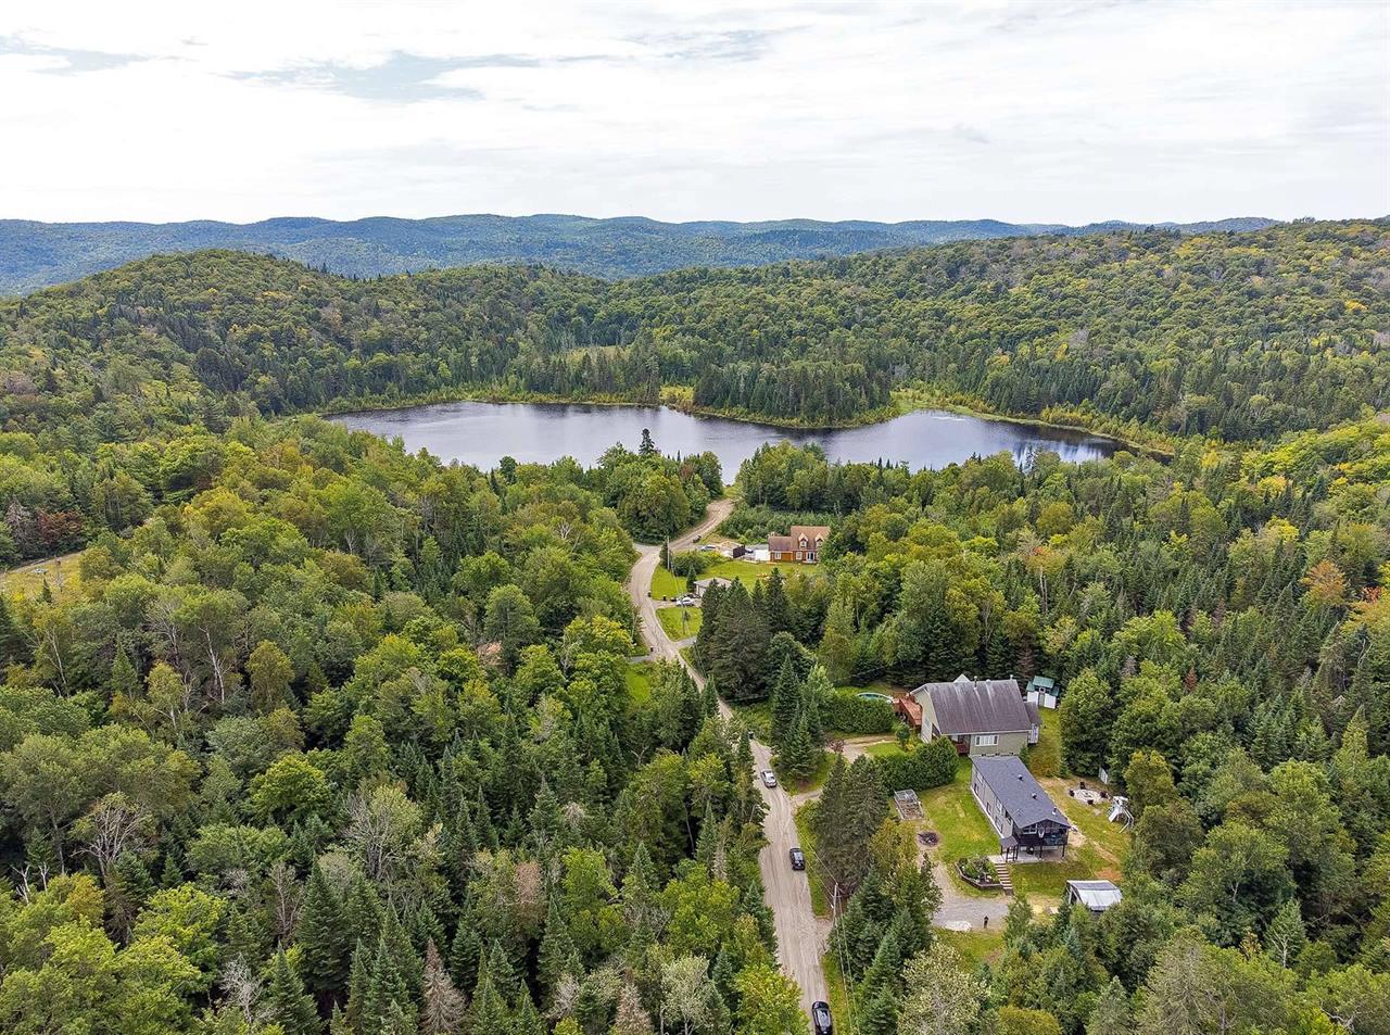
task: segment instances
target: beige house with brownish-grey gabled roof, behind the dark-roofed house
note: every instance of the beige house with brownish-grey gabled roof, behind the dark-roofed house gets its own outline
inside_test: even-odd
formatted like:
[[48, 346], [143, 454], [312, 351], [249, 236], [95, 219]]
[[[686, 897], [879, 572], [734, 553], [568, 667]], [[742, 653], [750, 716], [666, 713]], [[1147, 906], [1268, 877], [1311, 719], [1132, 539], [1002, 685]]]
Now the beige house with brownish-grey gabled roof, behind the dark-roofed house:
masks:
[[923, 684], [912, 692], [922, 706], [922, 739], [949, 739], [958, 754], [1017, 754], [1036, 742], [1038, 718], [1029, 711], [1016, 679]]

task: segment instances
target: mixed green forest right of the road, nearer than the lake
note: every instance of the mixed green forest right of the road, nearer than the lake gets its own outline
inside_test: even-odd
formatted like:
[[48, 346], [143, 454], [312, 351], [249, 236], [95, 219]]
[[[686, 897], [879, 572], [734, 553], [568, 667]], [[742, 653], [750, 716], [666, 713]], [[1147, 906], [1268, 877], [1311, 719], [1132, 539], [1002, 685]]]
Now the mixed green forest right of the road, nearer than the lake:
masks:
[[[819, 836], [853, 889], [833, 945], [859, 1031], [1390, 1029], [1390, 424], [1027, 470], [784, 443], [739, 490], [734, 528], [834, 522], [828, 579], [734, 586], [701, 627], [706, 671], [770, 700], [794, 764], [830, 725], [817, 681], [1047, 672], [1058, 763], [1106, 768], [1138, 820], [1120, 906], [1038, 921], [1016, 900], [1002, 957], [970, 974], [902, 913], [919, 878], [884, 788], [937, 781], [856, 761]], [[783, 631], [815, 650], [799, 671]]]

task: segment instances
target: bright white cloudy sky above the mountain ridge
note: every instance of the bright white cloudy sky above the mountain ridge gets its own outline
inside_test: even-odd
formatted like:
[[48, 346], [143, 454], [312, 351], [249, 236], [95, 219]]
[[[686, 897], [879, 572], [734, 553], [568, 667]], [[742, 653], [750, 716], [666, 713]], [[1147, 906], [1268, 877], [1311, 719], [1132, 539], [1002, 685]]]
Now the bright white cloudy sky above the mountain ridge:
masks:
[[1390, 3], [0, 4], [0, 218], [1390, 214]]

